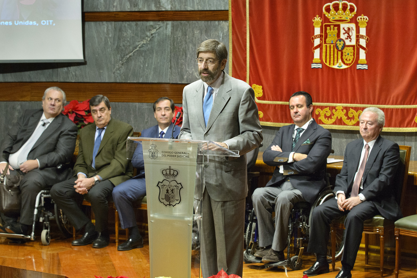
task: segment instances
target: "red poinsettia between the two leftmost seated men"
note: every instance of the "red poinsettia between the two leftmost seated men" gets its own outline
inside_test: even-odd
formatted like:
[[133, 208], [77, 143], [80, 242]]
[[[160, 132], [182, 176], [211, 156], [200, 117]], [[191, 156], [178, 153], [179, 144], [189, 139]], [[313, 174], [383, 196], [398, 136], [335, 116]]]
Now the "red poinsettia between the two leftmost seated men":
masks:
[[75, 99], [70, 101], [69, 104], [64, 106], [64, 111], [62, 113], [68, 116], [68, 118], [78, 126], [78, 133], [80, 132], [80, 129], [94, 121], [91, 116], [89, 99], [83, 102], [78, 102]]

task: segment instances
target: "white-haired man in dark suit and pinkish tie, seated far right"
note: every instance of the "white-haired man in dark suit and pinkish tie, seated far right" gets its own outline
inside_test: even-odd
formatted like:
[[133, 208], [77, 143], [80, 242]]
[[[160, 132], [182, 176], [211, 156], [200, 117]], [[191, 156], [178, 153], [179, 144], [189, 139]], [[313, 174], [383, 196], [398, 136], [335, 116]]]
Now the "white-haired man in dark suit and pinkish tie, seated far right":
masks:
[[381, 109], [368, 107], [362, 112], [359, 118], [362, 138], [346, 146], [342, 171], [337, 175], [334, 187], [337, 199], [328, 200], [314, 209], [308, 252], [316, 253], [317, 261], [304, 274], [314, 276], [329, 272], [326, 254], [333, 219], [346, 215], [342, 270], [336, 277], [350, 278], [362, 240], [364, 220], [377, 214], [393, 221], [402, 217], [394, 196], [399, 147], [379, 135], [384, 124]]

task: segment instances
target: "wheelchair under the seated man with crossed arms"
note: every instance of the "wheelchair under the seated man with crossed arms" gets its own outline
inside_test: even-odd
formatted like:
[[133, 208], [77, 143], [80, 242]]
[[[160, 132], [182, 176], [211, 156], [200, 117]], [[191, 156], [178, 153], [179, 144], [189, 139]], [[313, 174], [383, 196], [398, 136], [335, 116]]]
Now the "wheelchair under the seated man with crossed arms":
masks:
[[[310, 223], [313, 215], [313, 210], [323, 202], [334, 198], [333, 190], [329, 183], [328, 186], [320, 192], [313, 205], [308, 202], [298, 202], [291, 210], [289, 219], [289, 230], [287, 238], [287, 254], [286, 260], [277, 263], [265, 263], [265, 268], [274, 266], [289, 267], [292, 270], [300, 270], [302, 268], [302, 255], [304, 248], [308, 245], [310, 235]], [[336, 230], [336, 258], [341, 258], [344, 243], [344, 230]], [[249, 225], [245, 233], [246, 250], [244, 251], [244, 263], [262, 263], [261, 258], [254, 256], [254, 253], [259, 250], [258, 245], [258, 223], [254, 210], [249, 216]], [[332, 245], [329, 237], [327, 259], [332, 260]]]

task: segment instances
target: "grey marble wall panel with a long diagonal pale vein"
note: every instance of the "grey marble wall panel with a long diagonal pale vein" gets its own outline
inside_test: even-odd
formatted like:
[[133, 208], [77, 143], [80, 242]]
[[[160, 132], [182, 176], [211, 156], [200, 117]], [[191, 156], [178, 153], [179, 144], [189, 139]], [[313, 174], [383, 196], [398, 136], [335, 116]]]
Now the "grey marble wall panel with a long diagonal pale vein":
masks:
[[115, 22], [114, 34], [114, 81], [169, 82], [170, 21]]

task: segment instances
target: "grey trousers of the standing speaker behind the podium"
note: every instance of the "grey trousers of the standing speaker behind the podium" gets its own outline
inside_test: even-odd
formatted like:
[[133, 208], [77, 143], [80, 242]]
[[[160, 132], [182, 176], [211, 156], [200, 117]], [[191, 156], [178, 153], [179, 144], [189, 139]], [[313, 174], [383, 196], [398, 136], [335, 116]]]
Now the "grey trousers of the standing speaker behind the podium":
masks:
[[217, 202], [203, 193], [201, 227], [201, 270], [203, 278], [222, 268], [242, 277], [245, 228], [245, 198]]

